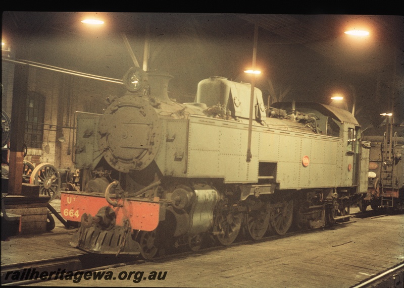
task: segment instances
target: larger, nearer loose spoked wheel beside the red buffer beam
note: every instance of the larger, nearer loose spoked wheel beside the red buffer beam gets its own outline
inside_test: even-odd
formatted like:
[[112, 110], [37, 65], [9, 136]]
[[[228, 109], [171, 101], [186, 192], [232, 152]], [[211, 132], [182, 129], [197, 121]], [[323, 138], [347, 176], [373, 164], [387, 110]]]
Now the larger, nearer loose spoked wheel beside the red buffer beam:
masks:
[[30, 176], [29, 183], [39, 185], [40, 195], [51, 197], [54, 200], [60, 193], [61, 179], [54, 165], [42, 163], [35, 167]]

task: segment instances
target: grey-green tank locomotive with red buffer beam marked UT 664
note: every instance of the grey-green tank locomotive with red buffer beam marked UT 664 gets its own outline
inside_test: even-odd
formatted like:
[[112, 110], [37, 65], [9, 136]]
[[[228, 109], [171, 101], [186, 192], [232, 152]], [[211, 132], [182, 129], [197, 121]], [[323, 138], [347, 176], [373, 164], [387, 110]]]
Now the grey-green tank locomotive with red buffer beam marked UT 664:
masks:
[[81, 221], [74, 245], [141, 254], [234, 242], [347, 220], [367, 193], [369, 143], [348, 111], [319, 103], [266, 107], [255, 89], [252, 158], [246, 161], [250, 85], [198, 84], [194, 103], [168, 97], [171, 76], [129, 69], [128, 89], [104, 114], [77, 112], [80, 191], [61, 212]]

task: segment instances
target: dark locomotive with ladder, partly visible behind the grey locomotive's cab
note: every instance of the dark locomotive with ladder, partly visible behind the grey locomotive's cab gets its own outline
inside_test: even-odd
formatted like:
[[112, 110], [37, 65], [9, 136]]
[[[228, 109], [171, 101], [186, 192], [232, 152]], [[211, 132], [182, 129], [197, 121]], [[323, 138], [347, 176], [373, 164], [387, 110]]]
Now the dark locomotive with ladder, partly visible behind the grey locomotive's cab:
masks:
[[[373, 130], [373, 131], [372, 131]], [[361, 211], [387, 208], [404, 212], [404, 128], [387, 116], [385, 127], [366, 131], [364, 140], [371, 142], [369, 189], [359, 202]]]

